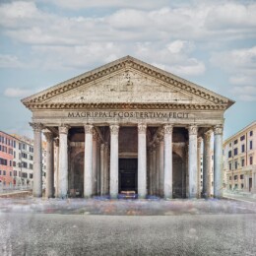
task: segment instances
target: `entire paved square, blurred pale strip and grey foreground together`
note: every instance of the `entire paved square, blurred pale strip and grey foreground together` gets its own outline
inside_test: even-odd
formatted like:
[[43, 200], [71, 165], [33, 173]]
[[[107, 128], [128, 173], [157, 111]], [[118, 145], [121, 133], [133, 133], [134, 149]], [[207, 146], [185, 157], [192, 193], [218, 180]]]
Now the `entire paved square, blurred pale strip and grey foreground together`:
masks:
[[0, 199], [0, 255], [256, 255], [256, 204]]

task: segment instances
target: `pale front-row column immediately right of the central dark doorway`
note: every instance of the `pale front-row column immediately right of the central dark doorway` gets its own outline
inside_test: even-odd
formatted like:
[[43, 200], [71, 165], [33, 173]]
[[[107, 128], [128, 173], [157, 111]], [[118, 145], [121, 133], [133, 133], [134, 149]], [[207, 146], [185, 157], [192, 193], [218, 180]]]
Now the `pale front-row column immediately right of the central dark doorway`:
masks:
[[138, 124], [138, 196], [146, 198], [147, 195], [147, 141], [146, 124]]

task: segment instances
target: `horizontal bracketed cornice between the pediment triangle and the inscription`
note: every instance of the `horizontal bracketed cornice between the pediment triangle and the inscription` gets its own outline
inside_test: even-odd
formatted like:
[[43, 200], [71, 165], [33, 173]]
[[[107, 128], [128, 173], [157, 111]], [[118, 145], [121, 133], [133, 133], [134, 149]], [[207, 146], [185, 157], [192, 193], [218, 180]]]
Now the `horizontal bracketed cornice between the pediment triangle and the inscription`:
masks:
[[36, 109], [178, 109], [178, 110], [224, 110], [226, 104], [175, 104], [175, 103], [28, 103], [26, 106]]

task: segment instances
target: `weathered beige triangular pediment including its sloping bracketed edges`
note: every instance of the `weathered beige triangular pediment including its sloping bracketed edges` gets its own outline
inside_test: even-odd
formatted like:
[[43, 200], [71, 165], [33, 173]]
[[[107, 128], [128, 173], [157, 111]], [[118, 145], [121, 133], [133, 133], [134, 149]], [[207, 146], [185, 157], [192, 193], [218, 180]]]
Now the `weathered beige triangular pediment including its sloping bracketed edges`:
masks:
[[130, 56], [22, 100], [29, 108], [65, 103], [178, 103], [225, 105], [217, 95]]

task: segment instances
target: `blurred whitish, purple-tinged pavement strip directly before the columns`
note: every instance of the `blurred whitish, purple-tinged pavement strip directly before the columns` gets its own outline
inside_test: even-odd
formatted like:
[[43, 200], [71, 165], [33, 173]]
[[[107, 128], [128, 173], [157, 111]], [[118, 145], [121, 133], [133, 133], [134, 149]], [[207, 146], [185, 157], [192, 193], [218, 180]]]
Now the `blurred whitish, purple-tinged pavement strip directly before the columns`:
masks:
[[64, 215], [179, 216], [256, 214], [256, 202], [234, 200], [109, 200], [85, 199], [3, 199], [0, 213], [43, 213]]

